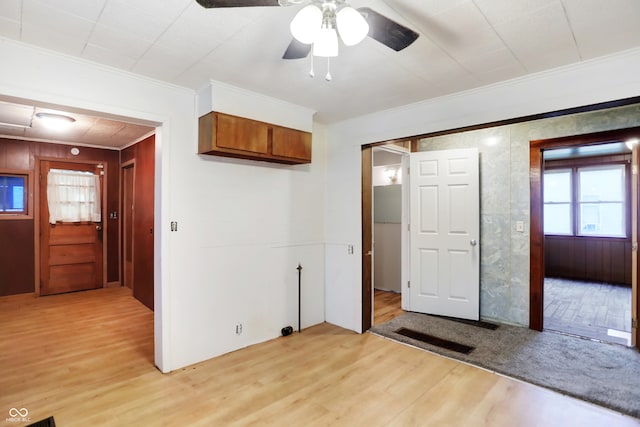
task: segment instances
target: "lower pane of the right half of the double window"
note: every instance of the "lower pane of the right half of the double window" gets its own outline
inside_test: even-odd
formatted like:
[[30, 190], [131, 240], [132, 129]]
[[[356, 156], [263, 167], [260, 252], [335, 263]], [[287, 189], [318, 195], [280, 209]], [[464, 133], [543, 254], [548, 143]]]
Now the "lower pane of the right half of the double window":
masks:
[[581, 203], [580, 235], [625, 237], [624, 210], [623, 203]]

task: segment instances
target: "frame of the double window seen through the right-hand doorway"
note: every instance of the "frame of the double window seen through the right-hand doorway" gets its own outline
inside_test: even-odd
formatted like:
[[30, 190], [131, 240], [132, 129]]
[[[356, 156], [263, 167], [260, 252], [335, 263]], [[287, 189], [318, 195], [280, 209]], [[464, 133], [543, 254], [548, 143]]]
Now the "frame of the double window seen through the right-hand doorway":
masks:
[[[614, 157], [614, 158], [612, 158]], [[607, 166], [615, 166], [615, 165], [623, 165], [624, 166], [624, 235], [623, 236], [613, 236], [613, 235], [598, 235], [598, 234], [583, 234], [580, 232], [580, 206], [581, 202], [580, 198], [580, 179], [579, 179], [579, 171], [581, 169], [592, 169], [592, 168], [604, 168]], [[543, 225], [543, 236], [552, 236], [552, 237], [573, 237], [579, 239], [612, 239], [612, 240], [629, 240], [631, 238], [631, 183], [630, 183], [630, 173], [631, 173], [631, 160], [630, 157], [624, 156], [609, 156], [604, 159], [601, 157], [587, 157], [587, 158], [579, 158], [579, 159], [569, 159], [569, 160], [554, 160], [546, 163], [542, 170], [542, 175], [544, 179], [544, 174], [549, 171], [556, 170], [571, 170], [571, 233], [570, 234], [562, 234], [562, 233], [545, 233], [544, 225]], [[544, 181], [543, 181], [544, 185]], [[544, 210], [544, 195], [542, 198], [542, 207]], [[543, 222], [544, 224], [544, 222]]]

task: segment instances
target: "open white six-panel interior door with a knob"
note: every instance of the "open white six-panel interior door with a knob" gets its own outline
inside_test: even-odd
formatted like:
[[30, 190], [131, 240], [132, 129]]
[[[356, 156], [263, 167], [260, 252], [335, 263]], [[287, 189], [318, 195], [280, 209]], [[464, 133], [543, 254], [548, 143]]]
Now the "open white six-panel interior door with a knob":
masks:
[[410, 310], [480, 317], [478, 150], [411, 153]]

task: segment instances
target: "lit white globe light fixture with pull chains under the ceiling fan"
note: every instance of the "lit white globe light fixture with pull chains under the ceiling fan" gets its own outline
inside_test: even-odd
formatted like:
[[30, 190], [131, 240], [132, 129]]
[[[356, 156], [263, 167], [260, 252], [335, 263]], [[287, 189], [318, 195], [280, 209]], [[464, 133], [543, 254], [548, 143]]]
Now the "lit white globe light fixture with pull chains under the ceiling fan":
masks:
[[[354, 46], [369, 34], [369, 24], [360, 12], [345, 6], [344, 0], [316, 3], [320, 5], [310, 4], [300, 9], [289, 28], [300, 43], [313, 45], [313, 56], [327, 58], [325, 79], [330, 81], [329, 58], [338, 56], [338, 34], [346, 46]], [[313, 65], [309, 75], [314, 76]]]

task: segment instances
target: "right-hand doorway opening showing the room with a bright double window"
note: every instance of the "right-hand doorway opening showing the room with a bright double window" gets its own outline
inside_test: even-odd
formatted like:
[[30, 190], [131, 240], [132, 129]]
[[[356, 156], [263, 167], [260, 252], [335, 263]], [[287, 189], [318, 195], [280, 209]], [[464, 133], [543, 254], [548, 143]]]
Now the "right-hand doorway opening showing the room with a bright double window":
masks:
[[544, 329], [631, 344], [631, 150], [543, 152]]

